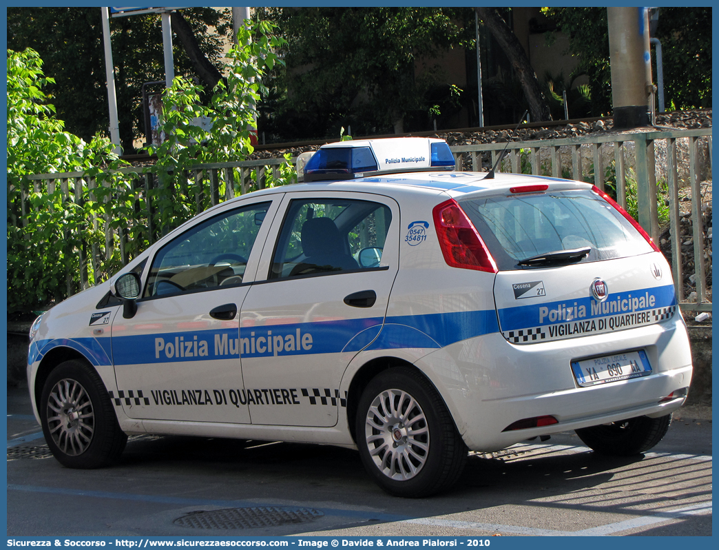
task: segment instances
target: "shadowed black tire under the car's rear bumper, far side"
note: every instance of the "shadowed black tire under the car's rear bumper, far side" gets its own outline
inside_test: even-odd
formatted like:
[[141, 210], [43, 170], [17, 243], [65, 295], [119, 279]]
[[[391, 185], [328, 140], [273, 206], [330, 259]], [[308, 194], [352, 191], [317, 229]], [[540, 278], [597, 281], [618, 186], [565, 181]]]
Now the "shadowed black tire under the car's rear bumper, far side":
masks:
[[592, 426], [576, 430], [577, 436], [597, 453], [613, 456], [631, 456], [644, 453], [661, 441], [672, 415], [659, 418], [638, 416], [628, 420], [619, 420], [610, 424]]

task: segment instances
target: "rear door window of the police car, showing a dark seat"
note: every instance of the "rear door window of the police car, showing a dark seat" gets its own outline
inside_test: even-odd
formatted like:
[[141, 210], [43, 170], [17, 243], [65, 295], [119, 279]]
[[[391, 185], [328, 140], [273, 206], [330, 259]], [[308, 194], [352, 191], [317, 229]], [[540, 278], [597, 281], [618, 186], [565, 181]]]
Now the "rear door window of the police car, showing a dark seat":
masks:
[[377, 202], [293, 200], [275, 247], [270, 279], [376, 267], [391, 221], [389, 207]]

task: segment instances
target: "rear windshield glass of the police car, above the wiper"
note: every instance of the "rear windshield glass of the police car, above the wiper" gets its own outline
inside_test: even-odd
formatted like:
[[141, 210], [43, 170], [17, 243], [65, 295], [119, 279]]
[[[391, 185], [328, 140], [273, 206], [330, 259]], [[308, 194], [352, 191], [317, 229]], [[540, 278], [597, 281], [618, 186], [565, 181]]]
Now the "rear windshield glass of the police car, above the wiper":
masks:
[[[589, 189], [460, 201], [500, 270], [533, 256], [590, 247], [582, 262], [652, 251], [614, 207]], [[546, 266], [546, 265], [544, 265]]]

